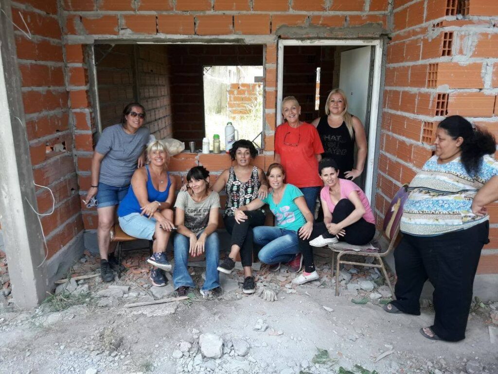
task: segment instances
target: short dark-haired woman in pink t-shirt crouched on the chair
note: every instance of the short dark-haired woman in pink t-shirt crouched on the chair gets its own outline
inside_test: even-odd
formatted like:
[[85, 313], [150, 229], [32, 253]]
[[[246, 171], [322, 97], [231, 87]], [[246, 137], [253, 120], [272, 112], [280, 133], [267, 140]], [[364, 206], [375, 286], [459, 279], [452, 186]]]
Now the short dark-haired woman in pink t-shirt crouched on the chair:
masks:
[[311, 240], [310, 245], [323, 247], [338, 241], [354, 245], [370, 242], [375, 235], [375, 218], [365, 193], [354, 182], [339, 178], [334, 160], [321, 160], [318, 171], [325, 185], [320, 191], [324, 232]]

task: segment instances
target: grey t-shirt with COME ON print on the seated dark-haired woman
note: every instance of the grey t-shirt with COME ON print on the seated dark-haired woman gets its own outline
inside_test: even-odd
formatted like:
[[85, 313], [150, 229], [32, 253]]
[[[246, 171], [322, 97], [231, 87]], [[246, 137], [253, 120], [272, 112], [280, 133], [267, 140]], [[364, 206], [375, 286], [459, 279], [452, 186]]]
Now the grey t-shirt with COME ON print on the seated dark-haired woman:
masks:
[[185, 227], [196, 235], [208, 225], [211, 209], [219, 207], [220, 195], [214, 191], [201, 202], [195, 202], [188, 191], [180, 191], [176, 196], [175, 208], [185, 211]]

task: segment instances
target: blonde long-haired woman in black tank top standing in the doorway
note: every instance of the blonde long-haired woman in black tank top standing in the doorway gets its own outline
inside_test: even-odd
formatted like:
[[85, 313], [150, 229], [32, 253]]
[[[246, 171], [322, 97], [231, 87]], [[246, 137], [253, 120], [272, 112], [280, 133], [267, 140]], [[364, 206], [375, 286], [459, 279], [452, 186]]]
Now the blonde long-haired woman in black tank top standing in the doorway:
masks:
[[[318, 130], [327, 157], [339, 167], [339, 178], [354, 180], [365, 167], [367, 137], [362, 122], [348, 112], [348, 101], [342, 90], [332, 90], [325, 102], [325, 116], [312, 124]], [[356, 167], [355, 145], [358, 148]]]

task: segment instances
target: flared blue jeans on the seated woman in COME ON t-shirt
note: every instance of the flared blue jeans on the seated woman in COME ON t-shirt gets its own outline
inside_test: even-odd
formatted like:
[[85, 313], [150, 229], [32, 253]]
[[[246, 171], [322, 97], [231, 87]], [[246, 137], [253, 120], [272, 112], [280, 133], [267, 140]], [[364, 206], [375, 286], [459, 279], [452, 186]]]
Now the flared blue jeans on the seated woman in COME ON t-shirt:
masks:
[[[197, 237], [202, 232], [199, 232]], [[175, 252], [175, 269], [173, 270], [175, 290], [181, 286], [195, 287], [187, 268], [190, 239], [185, 235], [176, 234], [173, 247]], [[208, 291], [220, 286], [220, 274], [217, 270], [220, 263], [220, 239], [216, 231], [206, 238], [204, 252], [206, 254], [206, 281], [202, 286], [202, 290]]]

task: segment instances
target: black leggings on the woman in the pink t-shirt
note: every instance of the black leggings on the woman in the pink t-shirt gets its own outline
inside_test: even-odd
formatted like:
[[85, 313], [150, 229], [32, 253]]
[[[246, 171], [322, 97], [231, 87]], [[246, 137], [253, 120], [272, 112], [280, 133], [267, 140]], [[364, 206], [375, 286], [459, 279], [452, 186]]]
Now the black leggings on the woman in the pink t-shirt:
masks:
[[[350, 200], [347, 198], [339, 200], [334, 208], [334, 213], [332, 214], [332, 223], [339, 223], [343, 221], [353, 212], [353, 210], [355, 210], [355, 205]], [[344, 231], [346, 231], [346, 234], [344, 236], [339, 236], [340, 241], [345, 241], [353, 245], [363, 245], [369, 243], [375, 236], [375, 225], [367, 222], [362, 217], [358, 221], [350, 224], [348, 227], [345, 227]], [[314, 239], [319, 235], [323, 235], [325, 238], [331, 238], [334, 236], [329, 233], [324, 222], [315, 222], [313, 224], [313, 232], [311, 233], [309, 240]], [[315, 265], [313, 263], [313, 250], [309, 245], [309, 240], [299, 239], [299, 250], [303, 255], [304, 270], [307, 273], [315, 271]]]

